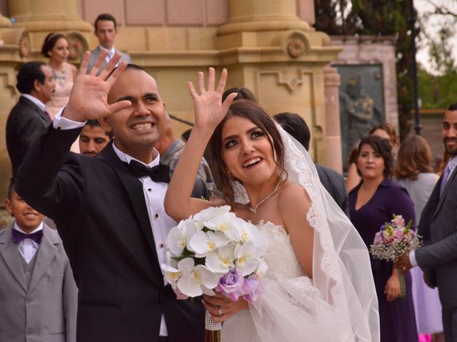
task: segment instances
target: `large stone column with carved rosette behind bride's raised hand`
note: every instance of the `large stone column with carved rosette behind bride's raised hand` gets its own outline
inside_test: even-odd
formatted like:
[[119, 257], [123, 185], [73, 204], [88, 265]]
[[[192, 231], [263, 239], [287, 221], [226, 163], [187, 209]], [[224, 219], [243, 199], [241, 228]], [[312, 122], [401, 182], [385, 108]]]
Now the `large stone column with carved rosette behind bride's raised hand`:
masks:
[[270, 115], [301, 115], [313, 132], [311, 156], [328, 166], [336, 150], [331, 144], [338, 137], [328, 127], [333, 117], [329, 121], [326, 115], [324, 66], [340, 48], [299, 19], [296, 4], [296, 0], [230, 0], [229, 20], [218, 30], [220, 65], [229, 68], [228, 87], [249, 88]]

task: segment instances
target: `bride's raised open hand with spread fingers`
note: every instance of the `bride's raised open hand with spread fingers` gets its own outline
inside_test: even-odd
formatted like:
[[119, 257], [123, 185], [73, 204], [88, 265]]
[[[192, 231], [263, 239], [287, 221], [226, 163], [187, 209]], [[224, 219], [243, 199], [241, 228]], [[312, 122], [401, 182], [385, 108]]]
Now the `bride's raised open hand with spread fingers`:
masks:
[[227, 96], [224, 103], [222, 102], [222, 94], [226, 87], [227, 81], [227, 69], [224, 68], [221, 72], [221, 78], [219, 84], [214, 89], [216, 76], [214, 68], [208, 70], [208, 88], [205, 88], [205, 76], [201, 71], [199, 72], [199, 93], [194, 88], [192, 82], [188, 82], [189, 92], [194, 99], [194, 115], [195, 115], [195, 127], [196, 128], [208, 128], [214, 130], [216, 126], [221, 122], [224, 116], [229, 110], [233, 98], [236, 97], [236, 93], [232, 93]]

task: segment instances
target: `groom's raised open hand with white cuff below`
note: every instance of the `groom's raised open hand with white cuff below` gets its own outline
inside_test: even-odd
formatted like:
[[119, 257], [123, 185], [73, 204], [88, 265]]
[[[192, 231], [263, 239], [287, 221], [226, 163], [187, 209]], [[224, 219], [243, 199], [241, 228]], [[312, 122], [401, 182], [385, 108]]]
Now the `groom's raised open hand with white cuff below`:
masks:
[[127, 64], [122, 62], [116, 68], [116, 63], [121, 58], [121, 55], [115, 53], [100, 75], [96, 76], [107, 54], [107, 50], [102, 51], [94, 63], [91, 73], [87, 74], [87, 66], [89, 65], [91, 53], [90, 51], [84, 53], [81, 68], [79, 68], [78, 76], [74, 80], [73, 88], [71, 89], [69, 103], [66, 105], [62, 116], [79, 122], [89, 119], [97, 120], [131, 105], [129, 100], [122, 100], [111, 105], [108, 104], [109, 90], [125, 70]]

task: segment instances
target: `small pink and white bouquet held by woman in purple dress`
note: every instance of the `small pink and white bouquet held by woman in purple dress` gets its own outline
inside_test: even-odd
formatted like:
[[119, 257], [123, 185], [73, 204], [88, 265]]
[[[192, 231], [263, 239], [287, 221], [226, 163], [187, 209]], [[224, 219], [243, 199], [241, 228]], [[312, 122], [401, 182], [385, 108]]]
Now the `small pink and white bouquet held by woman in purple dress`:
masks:
[[[376, 259], [397, 261], [398, 257], [421, 247], [421, 237], [411, 229], [412, 220], [405, 225], [401, 215], [392, 215], [390, 222], [381, 226], [379, 232], [374, 236], [373, 244], [370, 246], [370, 253]], [[400, 280], [400, 296], [406, 298], [406, 285], [403, 271], [398, 269]]]

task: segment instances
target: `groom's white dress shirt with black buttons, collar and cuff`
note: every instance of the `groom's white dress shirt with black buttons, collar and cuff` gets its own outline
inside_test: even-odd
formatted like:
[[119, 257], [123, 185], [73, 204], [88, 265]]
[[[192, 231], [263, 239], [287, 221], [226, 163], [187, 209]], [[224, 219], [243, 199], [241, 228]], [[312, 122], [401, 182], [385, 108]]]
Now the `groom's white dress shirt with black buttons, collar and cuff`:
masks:
[[[81, 128], [86, 124], [86, 122], [80, 123], [61, 116], [64, 109], [65, 108], [61, 108], [59, 113], [57, 113], [56, 117], [54, 118], [52, 122], [54, 128], [59, 128], [61, 130], [70, 130], [74, 128]], [[114, 140], [113, 149], [119, 159], [123, 162], [129, 163], [131, 160], [141, 162], [140, 160], [137, 160], [134, 157], [131, 157], [130, 155], [127, 155], [126, 153], [119, 150], [119, 148], [116, 147], [116, 140]], [[153, 167], [155, 165], [159, 165], [160, 155], [156, 149], [154, 149], [153, 156], [154, 155], [156, 155], [156, 157], [147, 166]], [[144, 164], [144, 162], [141, 162], [141, 164]], [[146, 208], [148, 209], [149, 222], [151, 223], [152, 235], [154, 236], [157, 258], [159, 259], [159, 265], [161, 265], [167, 261], [166, 237], [170, 229], [177, 225], [177, 222], [166, 214], [164, 208], [164, 198], [169, 185], [162, 182], [153, 182], [149, 176], [141, 177], [139, 180], [143, 185], [144, 200], [146, 202]], [[164, 274], [162, 269], [161, 271], [162, 274]], [[166, 284], [165, 280], [164, 284]], [[160, 323], [159, 335], [168, 336], [165, 317], [163, 314]]]

